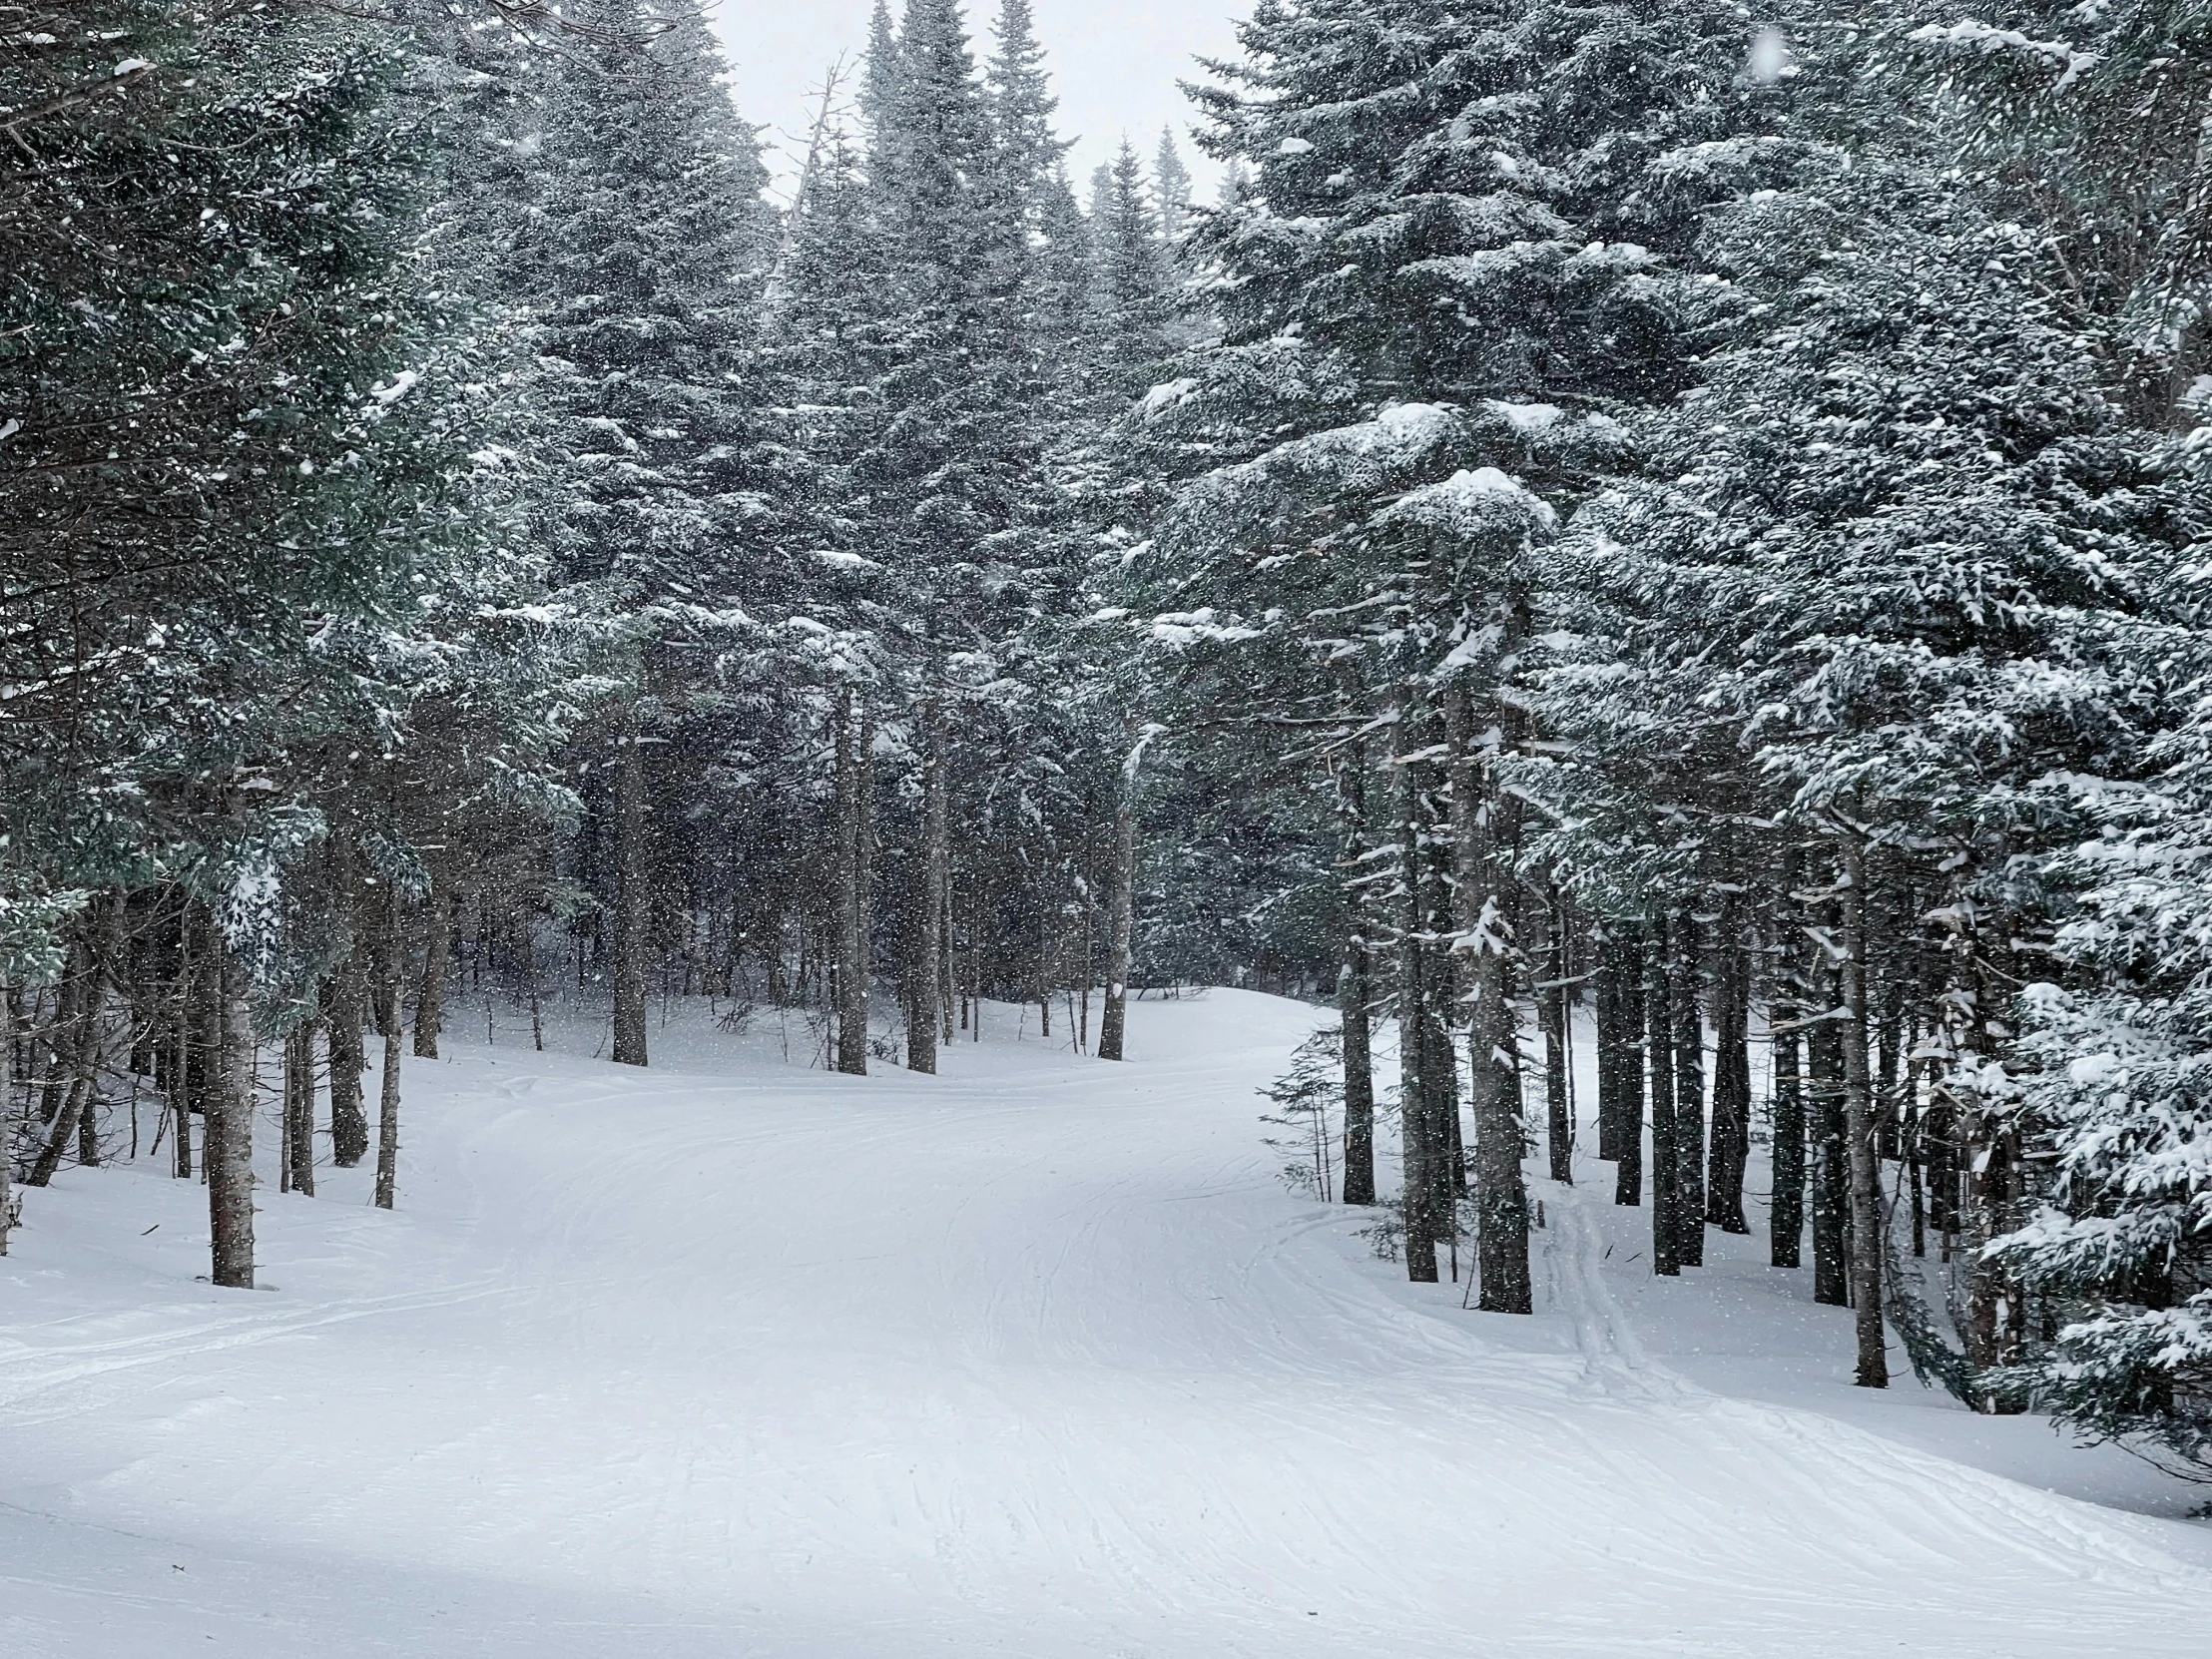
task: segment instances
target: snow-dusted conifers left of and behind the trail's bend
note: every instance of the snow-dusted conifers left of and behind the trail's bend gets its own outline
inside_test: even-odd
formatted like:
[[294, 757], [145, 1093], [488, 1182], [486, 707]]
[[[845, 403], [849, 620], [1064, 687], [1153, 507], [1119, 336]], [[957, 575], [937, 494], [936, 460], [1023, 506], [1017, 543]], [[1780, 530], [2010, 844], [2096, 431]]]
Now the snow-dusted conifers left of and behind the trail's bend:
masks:
[[1133, 969], [1086, 622], [1190, 177], [1071, 181], [1026, 0], [880, 4], [783, 204], [686, 4], [0, 29], [18, 1181], [144, 1139], [250, 1285], [257, 1130], [392, 1206], [462, 993], [936, 1071], [984, 1000], [1119, 1060], [1239, 949]]

